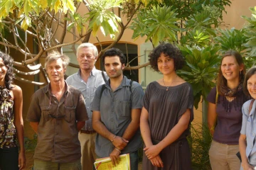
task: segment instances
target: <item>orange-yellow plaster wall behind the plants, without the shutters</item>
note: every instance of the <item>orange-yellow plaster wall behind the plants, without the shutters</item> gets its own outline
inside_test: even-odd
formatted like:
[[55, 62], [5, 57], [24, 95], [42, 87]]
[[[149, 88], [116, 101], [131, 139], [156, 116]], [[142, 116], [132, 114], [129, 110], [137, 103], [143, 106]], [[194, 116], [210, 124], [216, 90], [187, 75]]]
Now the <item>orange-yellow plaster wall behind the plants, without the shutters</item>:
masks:
[[[250, 16], [250, 10], [249, 7], [250, 6], [256, 6], [256, 1], [255, 0], [245, 0], [245, 1], [239, 1], [239, 0], [233, 0], [231, 6], [226, 7], [226, 13], [223, 13], [223, 21], [225, 22], [225, 26], [223, 26], [223, 28], [237, 28], [240, 29], [242, 28], [242, 26], [245, 23], [245, 20], [243, 18], [241, 18], [240, 16], [245, 15], [245, 16]], [[78, 13], [80, 13], [81, 15], [84, 15], [86, 12], [86, 10], [84, 8], [78, 8]], [[58, 32], [57, 32], [57, 36], [60, 37], [62, 33], [62, 28], [58, 28]], [[145, 38], [138, 38], [137, 40], [132, 40], [132, 30], [126, 29], [124, 30], [124, 35], [122, 36], [120, 42], [127, 42], [127, 43], [131, 43], [134, 45], [138, 45], [138, 55], [141, 55], [141, 53], [143, 52], [142, 48], [144, 47], [145, 43], [144, 40]], [[98, 32], [98, 38], [100, 40], [100, 42], [111, 42], [112, 39], [110, 39], [110, 37], [104, 37], [102, 35], [102, 33], [100, 33], [100, 31]], [[72, 42], [73, 41], [73, 35], [68, 35], [65, 38], [65, 42]], [[97, 44], [98, 41], [95, 37], [93, 37], [91, 35], [89, 42], [93, 43], [93, 44]], [[79, 45], [81, 42], [77, 42], [77, 44]], [[70, 56], [71, 57], [71, 56]], [[75, 62], [75, 56], [72, 56], [71, 61]], [[146, 60], [143, 61], [139, 61], [139, 64], [143, 64], [144, 62], [146, 62]], [[146, 70], [146, 69], [145, 69]], [[142, 69], [140, 69], [139, 72], [142, 72]], [[146, 72], [146, 71], [145, 71]], [[140, 74], [139, 74], [140, 75]], [[139, 77], [140, 81], [141, 77]], [[28, 109], [29, 106], [29, 101], [31, 100], [31, 94], [33, 94], [33, 91], [26, 91], [26, 89], [28, 89], [27, 87], [29, 86], [29, 89], [33, 89], [31, 87], [31, 85], [28, 84], [20, 84], [17, 83], [19, 86], [22, 86], [23, 89], [23, 98], [24, 98], [24, 103], [23, 103], [23, 118], [26, 118], [26, 111]], [[201, 103], [199, 104], [198, 110], [194, 111], [194, 117], [195, 117], [195, 121], [201, 123], [201, 117], [202, 117], [202, 109], [201, 109]], [[25, 136], [29, 136], [31, 137], [32, 131], [31, 128], [29, 127], [28, 123], [25, 121]]]

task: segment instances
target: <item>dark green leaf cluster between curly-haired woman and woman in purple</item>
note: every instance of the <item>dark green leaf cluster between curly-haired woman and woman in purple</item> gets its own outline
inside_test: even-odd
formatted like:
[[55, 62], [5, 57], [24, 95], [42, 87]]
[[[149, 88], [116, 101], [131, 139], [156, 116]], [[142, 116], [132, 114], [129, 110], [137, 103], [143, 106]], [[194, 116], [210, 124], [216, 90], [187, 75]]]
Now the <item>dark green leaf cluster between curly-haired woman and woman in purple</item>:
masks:
[[201, 96], [206, 100], [210, 89], [215, 86], [213, 79], [218, 72], [217, 66], [220, 64], [218, 57], [220, 47], [209, 45], [200, 48], [180, 45], [179, 48], [186, 58], [186, 66], [178, 74], [193, 87], [194, 106], [197, 109]]

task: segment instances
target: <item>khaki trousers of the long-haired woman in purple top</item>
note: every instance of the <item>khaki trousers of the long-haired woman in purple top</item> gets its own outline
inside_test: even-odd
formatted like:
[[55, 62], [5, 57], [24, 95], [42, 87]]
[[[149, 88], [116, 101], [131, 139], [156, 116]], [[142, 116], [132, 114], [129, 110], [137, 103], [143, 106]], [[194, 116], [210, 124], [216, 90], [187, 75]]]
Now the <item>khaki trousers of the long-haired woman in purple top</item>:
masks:
[[213, 170], [239, 170], [240, 160], [236, 156], [238, 145], [225, 145], [213, 142], [210, 145], [209, 158]]

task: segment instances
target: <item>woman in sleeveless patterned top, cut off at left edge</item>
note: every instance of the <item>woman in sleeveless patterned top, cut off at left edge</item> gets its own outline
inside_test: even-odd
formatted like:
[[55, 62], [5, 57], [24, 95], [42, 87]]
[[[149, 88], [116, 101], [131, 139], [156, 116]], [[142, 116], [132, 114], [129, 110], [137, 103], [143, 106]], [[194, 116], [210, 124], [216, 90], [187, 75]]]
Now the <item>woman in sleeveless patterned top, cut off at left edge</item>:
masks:
[[[22, 91], [13, 84], [13, 59], [0, 52], [0, 169], [25, 169]], [[18, 153], [18, 145], [20, 152]]]

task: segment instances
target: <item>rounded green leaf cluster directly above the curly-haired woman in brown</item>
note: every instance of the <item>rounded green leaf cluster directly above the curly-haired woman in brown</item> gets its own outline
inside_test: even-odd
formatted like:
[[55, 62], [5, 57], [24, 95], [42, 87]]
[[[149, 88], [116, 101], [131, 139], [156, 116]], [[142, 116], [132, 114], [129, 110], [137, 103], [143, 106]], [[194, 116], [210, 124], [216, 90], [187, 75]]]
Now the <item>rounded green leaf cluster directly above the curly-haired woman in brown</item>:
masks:
[[134, 30], [132, 38], [146, 35], [146, 41], [151, 40], [153, 45], [163, 41], [176, 41], [178, 31], [176, 15], [176, 10], [171, 10], [169, 6], [157, 6], [149, 11], [143, 8], [137, 18], [133, 19], [130, 27]]

